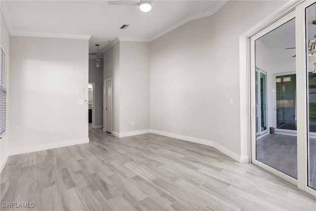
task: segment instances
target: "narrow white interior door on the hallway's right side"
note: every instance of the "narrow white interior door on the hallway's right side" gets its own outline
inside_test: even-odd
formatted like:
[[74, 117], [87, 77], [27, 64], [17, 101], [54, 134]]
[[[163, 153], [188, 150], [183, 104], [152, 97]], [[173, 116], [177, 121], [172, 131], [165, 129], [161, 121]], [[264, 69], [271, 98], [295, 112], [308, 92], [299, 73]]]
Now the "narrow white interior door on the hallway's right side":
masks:
[[112, 79], [105, 80], [106, 131], [112, 133]]

